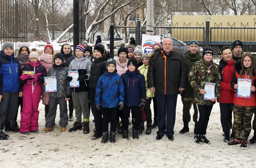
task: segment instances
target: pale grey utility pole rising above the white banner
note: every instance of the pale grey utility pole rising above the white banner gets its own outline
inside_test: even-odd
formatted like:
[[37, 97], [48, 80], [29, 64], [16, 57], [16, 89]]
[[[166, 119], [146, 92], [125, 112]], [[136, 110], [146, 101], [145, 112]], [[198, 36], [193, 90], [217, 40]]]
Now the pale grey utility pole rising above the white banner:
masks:
[[146, 24], [146, 34], [153, 35], [153, 26], [154, 26], [154, 1], [147, 0], [147, 24]]

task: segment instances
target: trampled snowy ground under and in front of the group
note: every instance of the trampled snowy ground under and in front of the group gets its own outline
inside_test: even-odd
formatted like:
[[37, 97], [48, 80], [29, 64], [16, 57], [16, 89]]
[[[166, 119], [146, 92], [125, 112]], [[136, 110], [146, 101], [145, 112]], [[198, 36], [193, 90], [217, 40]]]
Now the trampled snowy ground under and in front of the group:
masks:
[[[153, 109], [151, 104], [151, 109]], [[192, 108], [193, 109], [193, 108]], [[44, 128], [44, 106], [39, 105], [39, 130]], [[193, 115], [192, 110], [190, 111]], [[19, 116], [18, 116], [19, 117]], [[152, 117], [153, 118], [153, 117]], [[248, 145], [247, 150], [228, 147], [224, 143], [220, 125], [219, 105], [213, 106], [207, 129], [210, 145], [197, 145], [193, 141], [193, 121], [190, 131], [179, 134], [182, 129], [182, 103], [178, 96], [174, 141], [165, 136], [156, 141], [157, 128], [152, 134], [143, 131], [139, 140], [132, 139], [131, 126], [129, 140], [117, 134], [116, 143], [102, 144], [91, 140], [94, 123], [90, 117], [89, 134], [82, 131], [60, 132], [56, 125], [49, 133], [23, 135], [8, 132], [8, 140], [0, 141], [1, 167], [253, 167], [256, 145]], [[18, 118], [20, 121], [20, 117]], [[56, 124], [59, 114], [56, 116]], [[68, 128], [73, 122], [68, 122]], [[249, 138], [253, 135], [253, 131]]]

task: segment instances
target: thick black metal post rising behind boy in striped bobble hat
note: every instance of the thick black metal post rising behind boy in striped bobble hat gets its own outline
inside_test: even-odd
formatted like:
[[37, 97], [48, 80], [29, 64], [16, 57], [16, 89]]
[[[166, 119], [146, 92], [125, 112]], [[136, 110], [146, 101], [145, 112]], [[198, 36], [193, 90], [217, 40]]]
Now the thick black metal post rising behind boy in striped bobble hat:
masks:
[[73, 0], [73, 9], [76, 9], [73, 11], [73, 48], [74, 48], [74, 55], [76, 55], [76, 46], [79, 44], [79, 0]]

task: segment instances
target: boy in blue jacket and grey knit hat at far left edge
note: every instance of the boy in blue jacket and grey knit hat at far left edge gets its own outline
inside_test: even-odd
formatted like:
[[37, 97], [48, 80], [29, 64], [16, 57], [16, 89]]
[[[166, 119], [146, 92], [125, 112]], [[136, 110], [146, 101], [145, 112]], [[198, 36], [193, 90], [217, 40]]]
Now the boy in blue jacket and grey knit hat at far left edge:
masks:
[[3, 133], [4, 121], [5, 131], [19, 132], [15, 128], [15, 115], [18, 106], [18, 96], [22, 97], [19, 76], [21, 75], [19, 60], [14, 57], [13, 44], [4, 42], [0, 51], [0, 140], [7, 139], [9, 135]]

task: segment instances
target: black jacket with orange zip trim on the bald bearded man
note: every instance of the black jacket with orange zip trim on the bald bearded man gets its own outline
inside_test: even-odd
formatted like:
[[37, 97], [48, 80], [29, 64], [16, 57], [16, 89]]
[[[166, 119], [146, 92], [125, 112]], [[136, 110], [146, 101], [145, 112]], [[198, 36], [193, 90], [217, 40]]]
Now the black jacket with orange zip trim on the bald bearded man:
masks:
[[[186, 88], [187, 68], [183, 55], [156, 49], [148, 66], [148, 88], [155, 87], [156, 94], [178, 95], [179, 88]], [[166, 60], [166, 61], [165, 61]]]

